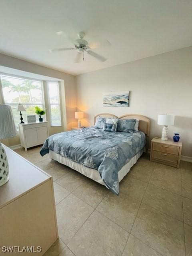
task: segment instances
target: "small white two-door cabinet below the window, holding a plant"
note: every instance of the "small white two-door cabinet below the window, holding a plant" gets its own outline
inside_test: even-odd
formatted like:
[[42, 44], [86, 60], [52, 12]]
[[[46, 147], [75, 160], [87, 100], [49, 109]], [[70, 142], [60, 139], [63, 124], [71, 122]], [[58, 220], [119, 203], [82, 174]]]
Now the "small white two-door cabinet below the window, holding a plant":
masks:
[[48, 138], [48, 122], [19, 124], [21, 146], [27, 148], [41, 145]]

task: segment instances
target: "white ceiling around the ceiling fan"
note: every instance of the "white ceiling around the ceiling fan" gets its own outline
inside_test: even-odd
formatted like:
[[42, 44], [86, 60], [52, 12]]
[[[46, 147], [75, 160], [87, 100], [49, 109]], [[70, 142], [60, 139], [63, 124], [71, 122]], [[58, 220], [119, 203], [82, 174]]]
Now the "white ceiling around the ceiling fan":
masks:
[[[64, 34], [55, 34], [63, 31]], [[74, 63], [72, 47], [84, 31], [88, 42], [108, 40], [111, 47], [86, 54]], [[192, 45], [192, 0], [1, 0], [0, 52], [61, 70], [82, 74]]]

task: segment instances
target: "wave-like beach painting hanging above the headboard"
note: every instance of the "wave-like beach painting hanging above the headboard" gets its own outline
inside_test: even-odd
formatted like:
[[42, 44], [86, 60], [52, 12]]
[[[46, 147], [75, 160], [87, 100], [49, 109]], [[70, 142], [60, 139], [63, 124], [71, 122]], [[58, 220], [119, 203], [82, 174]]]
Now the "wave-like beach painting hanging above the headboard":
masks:
[[128, 107], [129, 91], [104, 93], [103, 106], [104, 107]]

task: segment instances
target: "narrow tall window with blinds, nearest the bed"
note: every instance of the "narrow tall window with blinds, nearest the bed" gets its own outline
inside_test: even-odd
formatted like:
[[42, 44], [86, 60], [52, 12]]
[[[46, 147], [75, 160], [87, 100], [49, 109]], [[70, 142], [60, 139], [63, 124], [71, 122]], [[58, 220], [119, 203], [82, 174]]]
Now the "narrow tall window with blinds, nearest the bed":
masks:
[[61, 126], [59, 82], [47, 82], [51, 126]]

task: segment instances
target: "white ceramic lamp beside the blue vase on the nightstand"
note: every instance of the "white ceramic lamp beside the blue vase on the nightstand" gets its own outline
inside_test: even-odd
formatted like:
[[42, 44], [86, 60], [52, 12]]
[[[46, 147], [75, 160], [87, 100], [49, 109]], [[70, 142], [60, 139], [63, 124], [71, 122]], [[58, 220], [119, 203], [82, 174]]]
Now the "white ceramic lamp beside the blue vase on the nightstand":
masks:
[[162, 140], [168, 140], [168, 125], [174, 125], [174, 115], [158, 115], [158, 124], [163, 125]]

